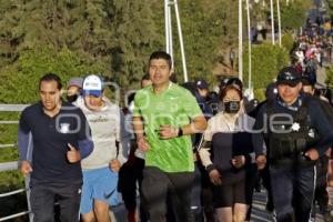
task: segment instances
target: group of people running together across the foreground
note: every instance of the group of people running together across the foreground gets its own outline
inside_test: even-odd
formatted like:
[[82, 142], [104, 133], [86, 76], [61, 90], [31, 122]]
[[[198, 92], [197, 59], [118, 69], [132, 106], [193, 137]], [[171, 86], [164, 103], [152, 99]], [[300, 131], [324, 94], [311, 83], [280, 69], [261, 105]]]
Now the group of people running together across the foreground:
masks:
[[67, 100], [57, 74], [40, 79], [18, 135], [33, 221], [54, 221], [58, 202], [59, 221], [110, 222], [121, 201], [129, 222], [194, 221], [198, 181], [200, 221], [250, 221], [261, 180], [278, 222], [314, 220], [316, 203], [332, 221], [333, 109], [314, 93], [315, 73], [283, 68], [261, 103], [238, 78], [214, 92], [204, 79], [172, 75], [170, 54], [153, 52], [124, 108], [104, 95], [100, 75], [72, 78]]

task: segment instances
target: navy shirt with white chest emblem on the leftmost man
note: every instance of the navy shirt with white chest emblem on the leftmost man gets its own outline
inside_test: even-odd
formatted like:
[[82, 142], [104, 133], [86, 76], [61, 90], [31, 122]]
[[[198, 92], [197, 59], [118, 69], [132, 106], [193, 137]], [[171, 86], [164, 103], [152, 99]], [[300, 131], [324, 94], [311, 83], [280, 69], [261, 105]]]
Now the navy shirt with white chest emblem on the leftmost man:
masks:
[[59, 113], [51, 118], [39, 102], [24, 109], [19, 127], [33, 138], [32, 182], [82, 183], [80, 161], [70, 163], [67, 159], [68, 143], [78, 149], [79, 141], [90, 138], [89, 125], [79, 108], [62, 102]]

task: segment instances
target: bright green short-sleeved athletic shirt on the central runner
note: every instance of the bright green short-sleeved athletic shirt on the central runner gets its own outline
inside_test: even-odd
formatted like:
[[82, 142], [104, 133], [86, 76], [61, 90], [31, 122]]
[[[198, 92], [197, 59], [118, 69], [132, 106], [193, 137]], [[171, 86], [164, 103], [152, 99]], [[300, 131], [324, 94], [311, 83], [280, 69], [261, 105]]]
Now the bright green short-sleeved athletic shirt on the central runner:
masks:
[[133, 117], [143, 119], [144, 132], [150, 149], [145, 153], [145, 165], [157, 167], [164, 172], [193, 172], [191, 135], [168, 140], [160, 139], [160, 125], [183, 127], [191, 119], [202, 115], [195, 98], [174, 83], [161, 94], [152, 85], [139, 90], [134, 98]]

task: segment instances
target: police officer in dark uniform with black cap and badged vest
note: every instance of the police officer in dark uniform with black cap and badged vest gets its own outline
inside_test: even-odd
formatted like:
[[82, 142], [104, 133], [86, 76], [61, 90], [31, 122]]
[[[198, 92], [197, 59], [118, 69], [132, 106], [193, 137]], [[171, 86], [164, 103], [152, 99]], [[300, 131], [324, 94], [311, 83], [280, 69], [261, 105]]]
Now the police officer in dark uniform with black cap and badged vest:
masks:
[[256, 117], [256, 164], [263, 169], [270, 162], [276, 221], [307, 222], [315, 161], [332, 144], [333, 129], [317, 102], [300, 93], [301, 73], [294, 68], [283, 68], [276, 84], [276, 99], [264, 104]]

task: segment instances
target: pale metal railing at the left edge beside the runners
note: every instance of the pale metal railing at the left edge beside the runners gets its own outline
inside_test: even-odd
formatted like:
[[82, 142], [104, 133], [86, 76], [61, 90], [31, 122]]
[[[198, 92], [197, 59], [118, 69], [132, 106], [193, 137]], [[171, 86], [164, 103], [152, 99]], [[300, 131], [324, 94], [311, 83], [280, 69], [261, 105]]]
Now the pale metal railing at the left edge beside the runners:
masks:
[[[28, 107], [28, 105], [26, 105], [26, 104], [0, 104], [0, 112], [21, 112], [26, 107]], [[0, 121], [0, 124], [18, 124], [18, 121]], [[16, 144], [0, 144], [0, 149], [2, 149], [2, 148], [17, 148], [17, 145]], [[0, 163], [0, 172], [18, 170], [18, 168], [19, 168], [18, 161]], [[14, 218], [19, 218], [19, 216], [22, 216], [26, 214], [29, 214], [29, 221], [32, 222], [32, 214], [31, 214], [30, 201], [29, 201], [29, 196], [30, 196], [29, 182], [30, 182], [30, 178], [26, 176], [24, 178], [24, 183], [26, 183], [24, 188], [18, 189], [14, 191], [10, 191], [7, 193], [0, 193], [0, 198], [8, 198], [10, 195], [27, 192], [27, 202], [28, 202], [27, 211], [13, 213], [13, 214], [0, 218], [0, 222], [8, 221], [8, 220], [14, 219]]]

